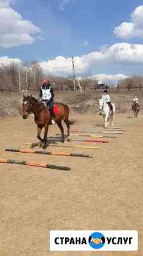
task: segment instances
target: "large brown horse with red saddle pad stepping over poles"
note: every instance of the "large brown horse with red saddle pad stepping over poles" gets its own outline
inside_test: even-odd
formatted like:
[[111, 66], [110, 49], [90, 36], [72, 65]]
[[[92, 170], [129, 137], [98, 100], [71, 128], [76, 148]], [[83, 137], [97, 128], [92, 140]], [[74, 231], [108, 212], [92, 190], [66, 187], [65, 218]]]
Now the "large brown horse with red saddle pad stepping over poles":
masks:
[[[29, 114], [34, 114], [34, 121], [37, 124], [37, 138], [43, 143], [43, 149], [46, 148], [47, 145], [47, 132], [50, 125], [50, 112], [43, 106], [42, 103], [38, 102], [32, 96], [23, 96], [23, 119], [26, 119]], [[62, 142], [65, 141], [64, 130], [62, 126], [62, 119], [66, 123], [67, 126], [67, 141], [70, 139], [70, 125], [73, 121], [69, 121], [69, 107], [63, 103], [55, 103], [54, 107], [57, 111], [55, 111], [54, 120], [57, 123], [59, 129], [62, 134]], [[43, 139], [41, 138], [42, 128], [45, 128], [45, 133]]]

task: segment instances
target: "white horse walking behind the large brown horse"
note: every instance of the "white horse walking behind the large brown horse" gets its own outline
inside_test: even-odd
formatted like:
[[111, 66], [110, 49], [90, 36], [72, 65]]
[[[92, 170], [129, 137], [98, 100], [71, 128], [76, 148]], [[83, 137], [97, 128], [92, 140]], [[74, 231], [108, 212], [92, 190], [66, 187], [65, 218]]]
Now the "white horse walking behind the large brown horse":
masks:
[[104, 102], [102, 99], [99, 99], [99, 110], [104, 118], [104, 125], [105, 128], [109, 126], [109, 122], [112, 121], [112, 126], [114, 126], [114, 115], [115, 115], [115, 105], [112, 103], [113, 106], [113, 114], [110, 111], [110, 107], [108, 103]]

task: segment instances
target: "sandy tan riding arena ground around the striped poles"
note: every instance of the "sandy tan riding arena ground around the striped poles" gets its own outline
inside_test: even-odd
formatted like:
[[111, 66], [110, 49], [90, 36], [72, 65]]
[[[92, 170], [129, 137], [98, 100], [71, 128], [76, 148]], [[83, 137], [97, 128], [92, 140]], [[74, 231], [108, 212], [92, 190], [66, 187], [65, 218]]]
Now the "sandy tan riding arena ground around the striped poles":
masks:
[[[116, 115], [115, 126], [126, 131], [98, 150], [53, 148], [57, 152], [92, 153], [73, 158], [5, 152], [37, 142], [33, 117], [1, 119], [1, 157], [67, 165], [70, 172], [0, 164], [0, 255], [95, 255], [94, 252], [50, 252], [49, 230], [138, 230], [139, 250], [98, 255], [143, 255], [142, 149], [143, 115]], [[98, 115], [76, 115], [73, 127], [102, 123]], [[49, 134], [59, 133], [57, 126]], [[70, 142], [71, 145], [73, 142]], [[67, 145], [67, 142], [65, 142]], [[81, 145], [81, 142], [79, 143]], [[89, 143], [82, 143], [89, 145]], [[38, 146], [35, 148], [38, 149]]]

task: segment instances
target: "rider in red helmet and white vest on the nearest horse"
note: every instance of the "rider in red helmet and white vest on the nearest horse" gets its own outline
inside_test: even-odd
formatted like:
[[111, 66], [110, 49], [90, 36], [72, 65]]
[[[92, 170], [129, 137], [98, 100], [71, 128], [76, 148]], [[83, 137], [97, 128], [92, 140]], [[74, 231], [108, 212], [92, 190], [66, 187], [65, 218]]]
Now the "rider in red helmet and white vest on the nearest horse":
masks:
[[50, 123], [54, 125], [54, 111], [53, 111], [53, 105], [54, 105], [54, 90], [53, 87], [50, 84], [50, 81], [48, 79], [42, 80], [42, 87], [39, 94], [39, 98], [42, 99], [42, 102], [46, 103], [47, 109], [50, 111], [51, 115], [51, 121]]

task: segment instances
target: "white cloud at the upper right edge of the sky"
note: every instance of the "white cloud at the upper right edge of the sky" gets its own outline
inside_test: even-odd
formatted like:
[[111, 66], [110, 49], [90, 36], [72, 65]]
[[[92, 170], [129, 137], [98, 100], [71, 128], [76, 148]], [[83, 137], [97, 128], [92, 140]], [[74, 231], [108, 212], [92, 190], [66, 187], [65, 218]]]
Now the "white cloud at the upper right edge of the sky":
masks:
[[122, 22], [114, 28], [114, 34], [121, 38], [143, 37], [143, 5], [130, 15], [131, 22]]

